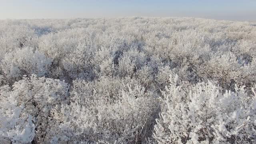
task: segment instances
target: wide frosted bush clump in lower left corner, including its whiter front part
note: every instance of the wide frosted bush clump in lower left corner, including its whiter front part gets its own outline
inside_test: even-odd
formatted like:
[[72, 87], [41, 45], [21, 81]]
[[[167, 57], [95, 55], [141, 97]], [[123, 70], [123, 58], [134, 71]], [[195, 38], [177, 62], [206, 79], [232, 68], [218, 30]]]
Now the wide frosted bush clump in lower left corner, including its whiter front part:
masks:
[[0, 91], [0, 138], [14, 143], [44, 143], [51, 131], [51, 111], [67, 103], [68, 84], [51, 78], [32, 75]]

